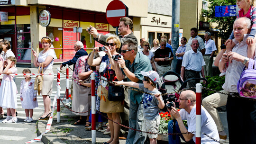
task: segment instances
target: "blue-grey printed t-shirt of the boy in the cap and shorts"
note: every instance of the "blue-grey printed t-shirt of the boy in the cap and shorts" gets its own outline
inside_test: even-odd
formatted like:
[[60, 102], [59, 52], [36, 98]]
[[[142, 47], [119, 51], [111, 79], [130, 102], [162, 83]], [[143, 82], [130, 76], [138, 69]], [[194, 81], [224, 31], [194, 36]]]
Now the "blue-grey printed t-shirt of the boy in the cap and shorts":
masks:
[[[144, 87], [143, 83], [139, 84], [139, 90], [153, 94], [161, 94], [161, 92], [157, 89], [154, 91], [148, 90]], [[147, 120], [156, 120], [158, 117], [160, 117], [158, 104], [159, 101], [154, 95], [143, 93], [143, 115]]]

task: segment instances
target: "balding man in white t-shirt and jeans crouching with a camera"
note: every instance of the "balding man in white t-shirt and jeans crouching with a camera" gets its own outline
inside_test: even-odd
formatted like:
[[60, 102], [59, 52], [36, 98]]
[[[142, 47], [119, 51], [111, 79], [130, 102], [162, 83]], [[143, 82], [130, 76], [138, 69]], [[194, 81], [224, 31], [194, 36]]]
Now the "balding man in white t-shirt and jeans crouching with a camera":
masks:
[[[175, 124], [175, 133], [187, 133], [193, 132], [196, 130], [196, 94], [192, 90], [185, 90], [181, 92], [180, 98], [178, 99], [179, 108], [181, 109], [178, 111], [174, 107], [171, 109], [168, 108], [168, 111], [171, 113], [172, 119], [176, 119]], [[169, 103], [167, 101], [167, 103]], [[173, 102], [174, 103], [174, 102]], [[210, 135], [210, 137], [219, 141], [219, 135], [217, 126], [207, 112], [205, 108], [201, 105], [201, 132]], [[184, 126], [183, 120], [187, 120], [188, 127]], [[168, 133], [173, 133], [173, 120], [168, 122]], [[182, 139], [185, 140], [186, 144], [195, 144], [195, 133], [190, 134], [183, 134], [181, 135]], [[169, 144], [181, 144], [180, 135], [176, 135], [176, 140], [173, 139], [173, 135], [169, 135]], [[210, 139], [206, 135], [201, 134], [201, 144], [218, 144], [214, 140]]]

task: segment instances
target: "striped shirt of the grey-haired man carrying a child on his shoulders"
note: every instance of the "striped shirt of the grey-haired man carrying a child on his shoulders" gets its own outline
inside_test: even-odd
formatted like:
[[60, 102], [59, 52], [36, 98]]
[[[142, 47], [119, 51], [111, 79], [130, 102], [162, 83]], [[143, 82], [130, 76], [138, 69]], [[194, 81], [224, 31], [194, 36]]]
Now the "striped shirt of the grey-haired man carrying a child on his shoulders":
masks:
[[[232, 52], [238, 53], [242, 56], [247, 57], [247, 43], [246, 39], [249, 34], [244, 35], [243, 41], [239, 44], [236, 39], [233, 39], [233, 42], [236, 44], [232, 49]], [[240, 79], [240, 75], [243, 72], [245, 65], [241, 62], [232, 60], [232, 63], [229, 63], [229, 67], [226, 71], [225, 83], [222, 88], [229, 92], [238, 92], [237, 84]]]

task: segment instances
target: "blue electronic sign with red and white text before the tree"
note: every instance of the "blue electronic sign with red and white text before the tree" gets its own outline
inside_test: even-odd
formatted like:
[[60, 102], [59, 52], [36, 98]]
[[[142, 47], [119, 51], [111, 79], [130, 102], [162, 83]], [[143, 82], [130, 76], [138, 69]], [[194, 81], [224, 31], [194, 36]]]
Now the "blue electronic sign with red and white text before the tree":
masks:
[[234, 17], [237, 16], [237, 6], [215, 6], [215, 17]]

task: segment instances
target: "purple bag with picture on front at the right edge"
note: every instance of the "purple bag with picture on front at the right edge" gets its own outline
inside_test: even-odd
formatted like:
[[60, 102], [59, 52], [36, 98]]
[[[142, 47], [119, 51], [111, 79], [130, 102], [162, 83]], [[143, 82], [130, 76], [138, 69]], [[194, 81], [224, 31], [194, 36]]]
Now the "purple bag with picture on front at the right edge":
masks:
[[256, 99], [256, 62], [253, 59], [249, 60], [248, 69], [241, 74], [238, 93], [241, 97]]

